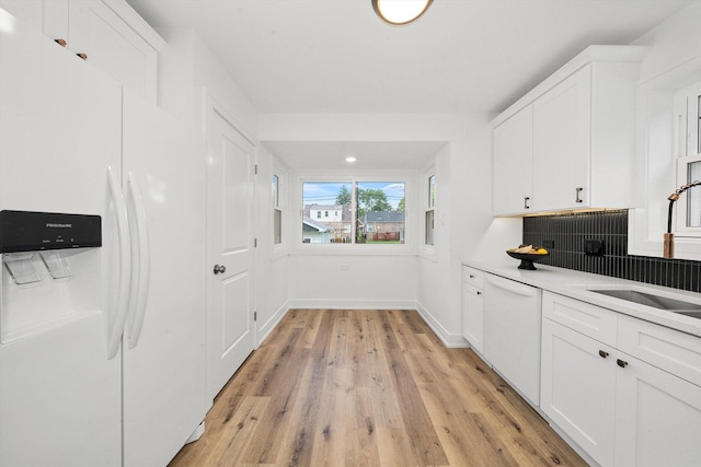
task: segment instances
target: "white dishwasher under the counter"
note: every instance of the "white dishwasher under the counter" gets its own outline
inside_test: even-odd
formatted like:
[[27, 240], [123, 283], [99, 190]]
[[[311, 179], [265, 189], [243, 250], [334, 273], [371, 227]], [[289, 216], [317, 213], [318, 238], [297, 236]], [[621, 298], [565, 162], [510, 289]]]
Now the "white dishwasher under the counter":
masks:
[[484, 275], [484, 358], [536, 406], [540, 405], [542, 291]]

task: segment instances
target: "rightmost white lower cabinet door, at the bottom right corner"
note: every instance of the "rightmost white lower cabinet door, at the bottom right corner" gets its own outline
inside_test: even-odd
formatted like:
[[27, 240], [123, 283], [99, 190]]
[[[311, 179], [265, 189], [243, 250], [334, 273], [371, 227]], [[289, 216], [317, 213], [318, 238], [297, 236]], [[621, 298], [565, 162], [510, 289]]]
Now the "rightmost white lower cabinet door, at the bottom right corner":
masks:
[[616, 465], [698, 466], [701, 387], [620, 352]]

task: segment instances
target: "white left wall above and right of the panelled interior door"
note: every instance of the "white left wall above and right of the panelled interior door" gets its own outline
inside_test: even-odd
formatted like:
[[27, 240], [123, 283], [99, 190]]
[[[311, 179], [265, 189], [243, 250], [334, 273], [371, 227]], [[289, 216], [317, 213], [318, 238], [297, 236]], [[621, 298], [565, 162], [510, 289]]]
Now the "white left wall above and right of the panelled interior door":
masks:
[[260, 343], [287, 312], [288, 259], [286, 253], [275, 250], [272, 236], [271, 180], [275, 160], [257, 141], [255, 107], [204, 42], [188, 28], [162, 28], [159, 33], [168, 43], [159, 57], [159, 106], [207, 136], [208, 105], [214, 102], [256, 147], [255, 288]]

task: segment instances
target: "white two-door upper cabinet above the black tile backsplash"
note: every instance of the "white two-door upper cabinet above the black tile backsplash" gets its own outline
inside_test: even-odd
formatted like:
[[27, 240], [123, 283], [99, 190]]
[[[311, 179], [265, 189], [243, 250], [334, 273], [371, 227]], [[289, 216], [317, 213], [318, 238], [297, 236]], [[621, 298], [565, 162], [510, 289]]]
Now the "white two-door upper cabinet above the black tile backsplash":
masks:
[[591, 46], [493, 121], [495, 215], [635, 206], [635, 84], [645, 51]]

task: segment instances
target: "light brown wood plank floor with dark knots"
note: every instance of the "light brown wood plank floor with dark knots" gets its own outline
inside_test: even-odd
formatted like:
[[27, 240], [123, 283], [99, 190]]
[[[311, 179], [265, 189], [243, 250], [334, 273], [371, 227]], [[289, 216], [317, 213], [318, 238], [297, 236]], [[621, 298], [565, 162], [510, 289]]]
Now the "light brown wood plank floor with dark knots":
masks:
[[415, 311], [291, 310], [221, 390], [182, 466], [586, 465]]

